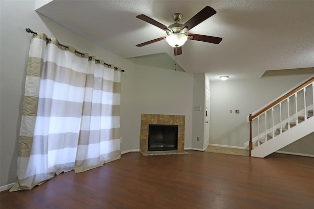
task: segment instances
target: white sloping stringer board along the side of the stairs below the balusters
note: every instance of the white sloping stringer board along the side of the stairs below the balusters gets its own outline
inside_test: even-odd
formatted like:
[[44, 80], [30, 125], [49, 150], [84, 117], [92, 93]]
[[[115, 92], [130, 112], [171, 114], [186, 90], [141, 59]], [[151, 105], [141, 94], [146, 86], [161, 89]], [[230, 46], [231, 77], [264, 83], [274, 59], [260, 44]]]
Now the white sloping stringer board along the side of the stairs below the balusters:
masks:
[[314, 117], [299, 123], [252, 150], [252, 157], [266, 157], [300, 138], [314, 132]]

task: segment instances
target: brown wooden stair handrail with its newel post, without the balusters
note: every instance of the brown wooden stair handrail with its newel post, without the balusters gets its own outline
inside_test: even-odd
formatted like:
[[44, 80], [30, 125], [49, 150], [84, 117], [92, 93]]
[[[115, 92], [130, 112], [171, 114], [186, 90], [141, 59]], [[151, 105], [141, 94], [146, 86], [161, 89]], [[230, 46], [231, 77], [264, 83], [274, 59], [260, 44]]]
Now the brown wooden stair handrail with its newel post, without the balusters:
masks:
[[249, 115], [249, 122], [250, 122], [249, 156], [250, 157], [251, 157], [251, 153], [252, 153], [252, 150], [253, 150], [253, 141], [252, 141], [252, 121], [253, 121], [253, 119], [256, 118], [257, 116], [259, 116], [260, 114], [262, 114], [263, 112], [267, 111], [271, 107], [275, 106], [276, 104], [279, 104], [280, 102], [284, 101], [285, 99], [287, 99], [291, 95], [295, 94], [299, 90], [303, 89], [305, 86], [309, 85], [312, 82], [314, 82], [314, 77], [309, 79], [308, 81], [302, 83], [298, 87], [294, 88], [293, 90], [291, 90], [290, 92], [288, 92], [287, 94], [285, 94], [284, 96], [282, 96], [281, 98], [276, 100], [275, 102], [273, 102], [273, 103], [267, 105], [266, 107], [262, 108], [262, 110], [258, 111], [254, 115], [252, 115], [252, 114]]

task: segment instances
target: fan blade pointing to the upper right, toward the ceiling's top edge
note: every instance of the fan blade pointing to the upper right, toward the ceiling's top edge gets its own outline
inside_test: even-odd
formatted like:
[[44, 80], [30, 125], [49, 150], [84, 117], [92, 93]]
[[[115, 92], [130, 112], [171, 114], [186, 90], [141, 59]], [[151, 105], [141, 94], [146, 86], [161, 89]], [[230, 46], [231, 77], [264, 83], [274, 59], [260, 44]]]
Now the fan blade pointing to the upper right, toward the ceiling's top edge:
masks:
[[187, 30], [192, 29], [194, 26], [202, 23], [204, 20], [216, 14], [216, 10], [211, 8], [210, 6], [206, 6], [204, 9], [199, 11], [196, 15], [194, 15], [190, 20], [188, 20], [183, 26], [181, 26], [181, 30], [186, 27]]

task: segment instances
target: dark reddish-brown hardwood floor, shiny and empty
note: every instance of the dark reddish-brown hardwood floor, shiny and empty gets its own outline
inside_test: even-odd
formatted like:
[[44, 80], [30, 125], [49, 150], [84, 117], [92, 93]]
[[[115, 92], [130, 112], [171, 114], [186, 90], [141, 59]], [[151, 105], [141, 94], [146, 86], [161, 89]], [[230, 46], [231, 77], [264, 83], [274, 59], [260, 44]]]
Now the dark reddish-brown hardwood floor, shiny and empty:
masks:
[[314, 158], [189, 151], [128, 153], [29, 191], [1, 192], [1, 209], [313, 209]]

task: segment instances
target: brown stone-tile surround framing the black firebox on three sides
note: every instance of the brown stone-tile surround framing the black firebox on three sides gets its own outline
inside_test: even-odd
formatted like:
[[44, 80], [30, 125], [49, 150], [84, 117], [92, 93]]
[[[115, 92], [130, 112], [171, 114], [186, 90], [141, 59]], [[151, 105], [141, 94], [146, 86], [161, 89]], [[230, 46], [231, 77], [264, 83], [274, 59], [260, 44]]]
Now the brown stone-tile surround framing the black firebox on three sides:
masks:
[[184, 126], [185, 126], [184, 115], [142, 114], [140, 152], [147, 152], [148, 150], [148, 125], [149, 124], [178, 125], [178, 151], [184, 152]]

